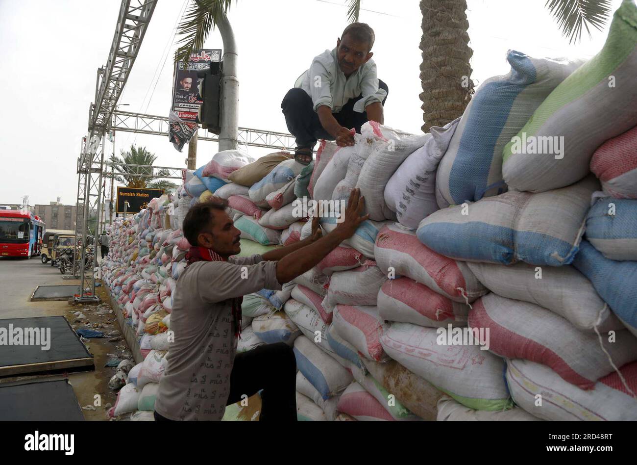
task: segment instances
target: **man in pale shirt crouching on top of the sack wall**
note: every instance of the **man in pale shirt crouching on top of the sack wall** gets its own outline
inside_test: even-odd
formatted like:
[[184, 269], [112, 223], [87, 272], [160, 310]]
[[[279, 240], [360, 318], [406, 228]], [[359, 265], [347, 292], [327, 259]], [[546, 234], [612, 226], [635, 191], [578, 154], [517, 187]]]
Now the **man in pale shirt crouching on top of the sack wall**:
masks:
[[[314, 57], [281, 103], [287, 128], [296, 137], [295, 158], [308, 165], [318, 139], [354, 145], [354, 131], [366, 121], [383, 122], [387, 84], [376, 77], [371, 59], [374, 31], [354, 22], [345, 27], [336, 48]], [[352, 129], [350, 129], [352, 128]]]

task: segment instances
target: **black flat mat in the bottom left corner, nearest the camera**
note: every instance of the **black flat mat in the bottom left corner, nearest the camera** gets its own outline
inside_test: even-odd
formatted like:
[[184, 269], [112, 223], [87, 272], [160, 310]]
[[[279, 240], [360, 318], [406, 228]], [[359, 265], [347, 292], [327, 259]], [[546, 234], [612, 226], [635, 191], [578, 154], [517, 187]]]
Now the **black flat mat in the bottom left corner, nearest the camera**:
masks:
[[67, 380], [39, 381], [0, 387], [0, 418], [9, 421], [84, 420]]

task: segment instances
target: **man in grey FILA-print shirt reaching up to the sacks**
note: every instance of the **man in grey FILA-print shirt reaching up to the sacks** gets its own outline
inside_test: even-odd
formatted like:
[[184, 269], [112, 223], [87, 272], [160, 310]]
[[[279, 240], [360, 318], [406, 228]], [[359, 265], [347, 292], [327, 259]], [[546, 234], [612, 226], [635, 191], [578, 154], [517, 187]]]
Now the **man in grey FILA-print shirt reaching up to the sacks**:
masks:
[[[354, 189], [341, 223], [322, 237], [318, 217], [307, 239], [249, 257], [241, 232], [225, 212], [227, 200], [211, 196], [183, 220], [192, 247], [188, 265], [173, 291], [171, 331], [175, 341], [159, 381], [155, 420], [221, 420], [225, 406], [259, 390], [260, 420], [296, 420], [296, 358], [285, 343], [236, 354], [241, 337], [241, 299], [310, 270], [368, 218], [364, 198]], [[246, 395], [247, 397], [243, 397]]]

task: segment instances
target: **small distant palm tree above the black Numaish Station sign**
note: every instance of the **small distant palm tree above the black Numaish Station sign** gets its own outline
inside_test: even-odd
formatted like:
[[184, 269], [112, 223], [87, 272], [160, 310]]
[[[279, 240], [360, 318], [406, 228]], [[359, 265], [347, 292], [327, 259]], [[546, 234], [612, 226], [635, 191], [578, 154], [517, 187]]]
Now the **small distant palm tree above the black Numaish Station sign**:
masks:
[[[131, 149], [125, 152], [122, 150], [120, 156], [111, 155], [110, 162], [115, 164], [113, 166], [113, 178], [126, 184], [127, 188], [164, 189], [168, 193], [171, 189], [175, 189], [177, 185], [166, 179], [153, 181], [153, 179], [170, 175], [168, 170], [155, 171], [152, 167], [155, 159], [157, 159], [157, 156], [148, 152], [146, 147], [135, 147], [131, 144]], [[108, 177], [110, 177], [110, 173]]]

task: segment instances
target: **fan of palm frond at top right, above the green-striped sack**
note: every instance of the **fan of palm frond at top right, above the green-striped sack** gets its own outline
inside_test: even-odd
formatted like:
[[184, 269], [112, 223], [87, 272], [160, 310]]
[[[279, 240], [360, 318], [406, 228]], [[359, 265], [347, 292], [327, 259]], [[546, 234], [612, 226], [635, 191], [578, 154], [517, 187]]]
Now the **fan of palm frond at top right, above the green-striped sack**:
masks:
[[545, 6], [553, 14], [569, 43], [580, 41], [582, 26], [590, 37], [589, 24], [601, 31], [610, 16], [612, 0], [547, 0]]

